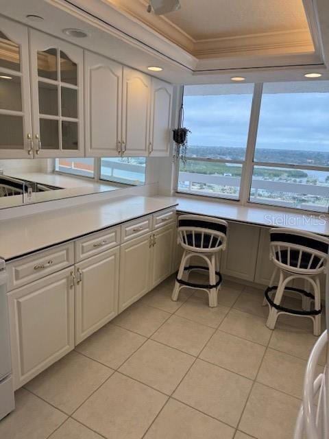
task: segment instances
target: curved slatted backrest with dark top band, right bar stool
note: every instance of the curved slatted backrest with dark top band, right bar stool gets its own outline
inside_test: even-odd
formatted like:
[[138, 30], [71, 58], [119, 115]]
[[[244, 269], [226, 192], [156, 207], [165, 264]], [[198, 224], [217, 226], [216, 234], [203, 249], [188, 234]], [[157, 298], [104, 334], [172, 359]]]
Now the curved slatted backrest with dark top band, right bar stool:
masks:
[[324, 272], [328, 261], [329, 239], [291, 228], [271, 228], [270, 252], [273, 263], [295, 272]]

